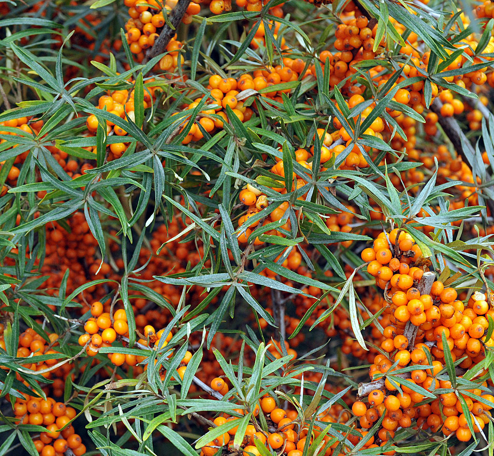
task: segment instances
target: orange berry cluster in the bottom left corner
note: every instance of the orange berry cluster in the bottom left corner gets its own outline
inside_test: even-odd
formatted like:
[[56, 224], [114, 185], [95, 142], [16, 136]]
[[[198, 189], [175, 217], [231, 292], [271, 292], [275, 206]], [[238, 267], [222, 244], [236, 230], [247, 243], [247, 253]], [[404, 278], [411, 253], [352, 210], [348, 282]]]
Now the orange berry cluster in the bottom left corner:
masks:
[[85, 454], [86, 447], [81, 436], [75, 433], [74, 426], [67, 426], [76, 417], [76, 410], [67, 407], [63, 402], [56, 402], [51, 397], [15, 398], [14, 415], [16, 424], [46, 427], [46, 431], [41, 432], [39, 439], [34, 441], [34, 446], [41, 456], [62, 456], [69, 449], [75, 456]]

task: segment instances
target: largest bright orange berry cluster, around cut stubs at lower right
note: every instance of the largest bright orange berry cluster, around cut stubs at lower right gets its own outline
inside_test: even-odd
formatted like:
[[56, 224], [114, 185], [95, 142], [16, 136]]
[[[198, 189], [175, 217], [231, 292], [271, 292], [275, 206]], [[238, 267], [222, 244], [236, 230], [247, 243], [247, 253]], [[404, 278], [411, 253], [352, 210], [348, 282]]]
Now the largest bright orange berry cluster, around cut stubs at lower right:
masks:
[[[478, 388], [458, 394], [453, 389], [452, 392], [441, 391], [438, 397], [425, 404], [422, 401], [426, 397], [411, 388], [410, 383], [431, 393], [436, 389], [452, 388], [451, 379], [436, 378], [444, 372], [447, 363], [445, 349], [450, 351], [453, 362], [463, 358], [459, 369], [469, 369], [484, 359], [485, 350], [494, 347], [492, 338], [484, 340], [489, 327], [488, 317], [494, 315], [486, 295], [474, 292], [465, 307], [455, 289], [445, 288], [442, 282], [433, 281], [433, 277], [430, 290], [421, 293], [418, 288], [425, 279], [426, 263], [412, 236], [399, 229], [380, 234], [372, 248], [363, 250], [362, 259], [369, 262], [368, 272], [385, 293], [382, 306], [387, 326], [380, 346], [388, 355], [377, 354], [369, 370], [371, 378], [384, 375], [384, 381], [369, 384], [375, 385], [366, 393], [371, 407], [362, 401], [353, 405], [361, 427], [370, 428], [384, 414], [382, 428], [393, 437], [398, 427], [410, 427], [412, 419], [417, 418], [417, 428], [437, 432], [442, 426], [445, 435], [454, 432], [458, 440], [468, 441], [472, 435], [462, 402], [471, 413], [473, 430], [479, 432], [489, 422], [489, 410], [494, 407], [494, 396], [486, 393], [487, 382], [480, 384], [479, 381]], [[381, 322], [384, 326], [384, 320]], [[444, 340], [447, 348], [443, 345]], [[413, 346], [410, 345], [412, 341]], [[422, 367], [428, 366], [431, 359], [432, 367]], [[402, 391], [396, 394], [396, 382], [386, 375], [409, 366], [414, 366], [414, 370], [405, 376]], [[460, 373], [458, 378], [461, 376]], [[478, 376], [482, 376], [482, 370]], [[483, 401], [472, 399], [475, 396], [482, 396]]]

